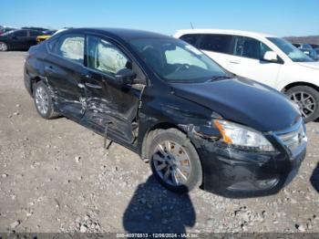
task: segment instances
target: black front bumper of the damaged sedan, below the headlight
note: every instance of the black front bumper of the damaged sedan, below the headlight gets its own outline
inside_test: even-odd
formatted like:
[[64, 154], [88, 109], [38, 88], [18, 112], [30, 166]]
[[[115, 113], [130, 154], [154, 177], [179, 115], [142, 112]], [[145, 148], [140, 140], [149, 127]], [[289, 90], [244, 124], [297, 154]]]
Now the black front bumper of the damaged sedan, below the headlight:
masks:
[[290, 150], [274, 141], [275, 152], [240, 151], [206, 141], [200, 146], [201, 187], [231, 198], [271, 195], [293, 181], [306, 154], [306, 141]]

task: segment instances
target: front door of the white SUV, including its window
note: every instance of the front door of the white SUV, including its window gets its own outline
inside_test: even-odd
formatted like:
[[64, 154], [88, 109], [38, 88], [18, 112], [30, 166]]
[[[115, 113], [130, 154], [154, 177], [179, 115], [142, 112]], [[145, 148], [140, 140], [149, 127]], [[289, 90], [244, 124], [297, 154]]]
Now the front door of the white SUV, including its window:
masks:
[[235, 36], [228, 69], [241, 77], [274, 87], [282, 64], [262, 60], [267, 51], [272, 49], [257, 39]]

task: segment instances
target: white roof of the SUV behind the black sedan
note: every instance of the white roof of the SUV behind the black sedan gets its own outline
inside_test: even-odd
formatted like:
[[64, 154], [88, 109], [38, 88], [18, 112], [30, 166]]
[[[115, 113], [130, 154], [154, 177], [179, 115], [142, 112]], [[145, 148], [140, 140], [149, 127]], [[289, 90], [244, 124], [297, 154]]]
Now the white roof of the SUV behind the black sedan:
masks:
[[266, 33], [231, 30], [231, 29], [184, 29], [178, 30], [175, 35], [182, 36], [185, 34], [227, 34], [227, 35], [239, 35], [239, 36], [251, 36], [251, 37], [276, 37]]

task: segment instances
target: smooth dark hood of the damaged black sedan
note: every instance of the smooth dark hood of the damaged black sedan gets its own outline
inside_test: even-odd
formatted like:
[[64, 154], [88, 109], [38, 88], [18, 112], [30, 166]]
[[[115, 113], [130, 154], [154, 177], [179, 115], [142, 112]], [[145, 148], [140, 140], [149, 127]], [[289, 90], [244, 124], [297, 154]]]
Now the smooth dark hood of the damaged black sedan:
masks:
[[285, 130], [300, 119], [300, 112], [279, 91], [246, 78], [205, 83], [172, 83], [173, 93], [263, 132]]

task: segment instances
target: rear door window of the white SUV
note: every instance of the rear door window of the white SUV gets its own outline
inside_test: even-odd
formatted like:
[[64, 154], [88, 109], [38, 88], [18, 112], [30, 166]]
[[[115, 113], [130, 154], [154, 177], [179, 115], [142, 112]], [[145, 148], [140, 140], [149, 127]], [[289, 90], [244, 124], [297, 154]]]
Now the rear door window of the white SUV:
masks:
[[232, 36], [207, 34], [201, 39], [200, 49], [230, 54], [232, 51]]

